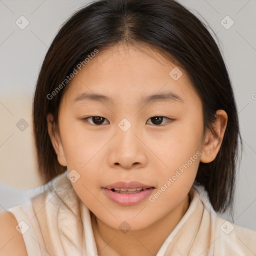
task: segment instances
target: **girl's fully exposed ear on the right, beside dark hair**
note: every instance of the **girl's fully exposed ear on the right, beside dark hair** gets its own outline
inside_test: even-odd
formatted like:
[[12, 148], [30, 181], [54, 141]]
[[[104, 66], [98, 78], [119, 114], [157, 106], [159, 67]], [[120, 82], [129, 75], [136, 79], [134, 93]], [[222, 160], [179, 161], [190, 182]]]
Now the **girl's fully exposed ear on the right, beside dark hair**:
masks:
[[223, 140], [226, 124], [227, 113], [222, 109], [218, 109], [216, 111], [216, 120], [213, 124], [213, 129], [216, 134], [209, 130], [205, 132], [205, 138], [200, 156], [201, 162], [207, 163], [215, 159]]

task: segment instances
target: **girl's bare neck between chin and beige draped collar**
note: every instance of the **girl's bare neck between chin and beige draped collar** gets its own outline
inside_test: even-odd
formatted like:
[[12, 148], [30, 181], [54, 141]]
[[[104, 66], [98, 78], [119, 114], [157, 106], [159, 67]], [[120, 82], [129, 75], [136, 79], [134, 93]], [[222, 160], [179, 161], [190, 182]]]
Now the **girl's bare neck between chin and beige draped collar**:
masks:
[[91, 222], [97, 251], [100, 256], [151, 256], [172, 232], [189, 206], [189, 195], [175, 209], [150, 226], [129, 230], [123, 234], [97, 218], [92, 212]]

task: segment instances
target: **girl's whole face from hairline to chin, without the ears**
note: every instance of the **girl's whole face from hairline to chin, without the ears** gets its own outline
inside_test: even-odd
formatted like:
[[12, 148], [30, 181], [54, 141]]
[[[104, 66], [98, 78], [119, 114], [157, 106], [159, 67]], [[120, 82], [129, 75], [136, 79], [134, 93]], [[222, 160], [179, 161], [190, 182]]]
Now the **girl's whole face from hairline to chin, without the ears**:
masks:
[[114, 46], [90, 59], [61, 98], [58, 161], [72, 170], [82, 202], [112, 228], [153, 224], [194, 181], [202, 104], [184, 70], [178, 67], [180, 76], [174, 67], [145, 46]]

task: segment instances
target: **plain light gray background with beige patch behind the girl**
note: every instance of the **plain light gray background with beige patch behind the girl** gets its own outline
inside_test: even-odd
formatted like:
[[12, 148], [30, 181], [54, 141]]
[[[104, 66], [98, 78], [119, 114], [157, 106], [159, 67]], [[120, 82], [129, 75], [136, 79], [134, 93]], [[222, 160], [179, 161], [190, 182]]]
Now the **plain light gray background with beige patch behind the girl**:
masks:
[[[44, 55], [61, 23], [86, 0], [0, 0], [0, 210], [40, 191], [32, 137], [32, 95]], [[234, 223], [256, 230], [256, 1], [180, 0], [219, 38], [231, 77], [244, 152], [235, 189]], [[21, 16], [29, 24], [20, 29]], [[228, 15], [234, 24], [226, 29]], [[230, 24], [229, 20], [225, 21]], [[211, 34], [213, 34], [211, 32]], [[16, 123], [25, 119], [21, 131]], [[231, 220], [227, 214], [222, 217]]]

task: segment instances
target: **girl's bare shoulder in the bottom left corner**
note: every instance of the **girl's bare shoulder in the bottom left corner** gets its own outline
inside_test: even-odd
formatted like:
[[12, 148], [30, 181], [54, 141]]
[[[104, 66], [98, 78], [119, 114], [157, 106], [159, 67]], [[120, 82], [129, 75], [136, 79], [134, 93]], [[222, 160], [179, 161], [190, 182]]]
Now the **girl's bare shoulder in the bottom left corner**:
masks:
[[18, 222], [9, 211], [0, 212], [0, 256], [27, 256], [23, 236], [16, 229]]

